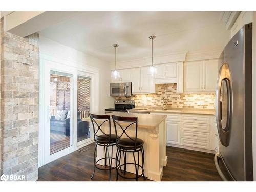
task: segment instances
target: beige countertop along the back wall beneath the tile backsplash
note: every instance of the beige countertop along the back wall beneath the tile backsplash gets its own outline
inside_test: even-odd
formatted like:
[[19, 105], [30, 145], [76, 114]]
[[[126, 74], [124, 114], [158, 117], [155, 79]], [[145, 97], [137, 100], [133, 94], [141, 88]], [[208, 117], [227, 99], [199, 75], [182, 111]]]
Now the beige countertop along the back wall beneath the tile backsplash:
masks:
[[185, 113], [185, 114], [201, 114], [201, 115], [215, 115], [215, 109], [195, 109], [195, 108], [168, 108], [167, 110], [162, 110], [162, 108], [153, 108], [146, 106], [138, 106], [131, 110], [127, 110], [131, 113], [133, 112], [150, 112], [150, 113]]

